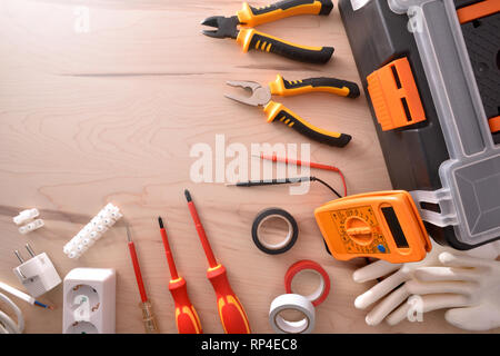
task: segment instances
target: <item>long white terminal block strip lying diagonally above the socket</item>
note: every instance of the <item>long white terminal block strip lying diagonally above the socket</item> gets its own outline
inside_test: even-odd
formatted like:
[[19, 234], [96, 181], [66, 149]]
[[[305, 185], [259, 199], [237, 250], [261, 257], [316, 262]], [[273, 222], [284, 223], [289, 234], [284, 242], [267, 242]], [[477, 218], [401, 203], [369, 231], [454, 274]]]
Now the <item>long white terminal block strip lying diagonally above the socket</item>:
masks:
[[79, 258], [90, 246], [122, 217], [120, 209], [108, 204], [62, 248], [69, 258]]

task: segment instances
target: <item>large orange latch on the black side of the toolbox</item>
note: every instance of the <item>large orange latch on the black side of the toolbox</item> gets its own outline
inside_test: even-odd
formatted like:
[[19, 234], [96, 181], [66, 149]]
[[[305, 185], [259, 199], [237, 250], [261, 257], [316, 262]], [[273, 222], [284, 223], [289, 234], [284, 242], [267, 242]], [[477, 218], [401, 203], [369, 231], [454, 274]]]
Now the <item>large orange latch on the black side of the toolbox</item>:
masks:
[[368, 76], [367, 80], [371, 103], [383, 131], [426, 120], [407, 58], [383, 66]]

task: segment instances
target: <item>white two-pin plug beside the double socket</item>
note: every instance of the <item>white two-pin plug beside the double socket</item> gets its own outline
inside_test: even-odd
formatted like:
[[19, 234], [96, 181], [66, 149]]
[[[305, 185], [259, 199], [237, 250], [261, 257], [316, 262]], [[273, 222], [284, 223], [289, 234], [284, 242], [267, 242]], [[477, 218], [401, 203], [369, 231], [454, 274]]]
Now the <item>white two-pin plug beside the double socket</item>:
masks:
[[28, 289], [28, 293], [33, 298], [37, 298], [59, 285], [61, 277], [59, 277], [58, 271], [46, 253], [34, 255], [29, 244], [26, 244], [26, 249], [31, 258], [24, 261], [19, 251], [16, 250], [14, 254], [21, 265], [13, 268], [12, 271]]

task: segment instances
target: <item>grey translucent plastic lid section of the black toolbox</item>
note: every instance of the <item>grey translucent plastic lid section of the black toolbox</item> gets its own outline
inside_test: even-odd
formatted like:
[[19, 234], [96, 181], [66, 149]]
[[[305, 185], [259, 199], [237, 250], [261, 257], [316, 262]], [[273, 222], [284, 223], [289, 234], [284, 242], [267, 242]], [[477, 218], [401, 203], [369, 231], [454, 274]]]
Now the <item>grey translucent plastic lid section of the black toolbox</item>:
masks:
[[500, 238], [500, 147], [494, 146], [452, 0], [388, 0], [406, 11], [413, 32], [450, 159], [442, 189], [413, 191], [423, 220], [452, 226], [466, 248]]

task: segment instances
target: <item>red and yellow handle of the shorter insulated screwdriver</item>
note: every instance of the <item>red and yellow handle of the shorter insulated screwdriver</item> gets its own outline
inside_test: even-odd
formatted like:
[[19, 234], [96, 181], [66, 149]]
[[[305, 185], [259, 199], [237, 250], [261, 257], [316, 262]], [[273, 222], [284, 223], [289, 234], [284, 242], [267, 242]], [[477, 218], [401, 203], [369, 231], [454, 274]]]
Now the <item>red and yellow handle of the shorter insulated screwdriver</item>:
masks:
[[176, 324], [179, 334], [202, 334], [200, 318], [188, 296], [188, 287], [182, 277], [170, 280], [169, 290], [176, 303]]

